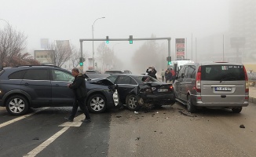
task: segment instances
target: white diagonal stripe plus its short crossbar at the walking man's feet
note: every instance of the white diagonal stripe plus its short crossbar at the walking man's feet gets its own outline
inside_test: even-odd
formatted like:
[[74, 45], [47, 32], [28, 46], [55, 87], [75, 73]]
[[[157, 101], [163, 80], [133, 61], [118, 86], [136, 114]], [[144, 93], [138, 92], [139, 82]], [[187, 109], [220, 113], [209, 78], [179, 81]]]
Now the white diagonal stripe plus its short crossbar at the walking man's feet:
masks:
[[68, 128], [81, 126], [82, 119], [85, 119], [85, 115], [83, 114], [75, 117], [74, 122], [64, 122], [63, 124], [60, 124], [60, 126], [64, 126], [62, 130], [55, 133], [52, 137], [49, 137], [49, 139], [38, 145], [37, 148], [33, 149], [31, 152], [27, 153], [27, 155], [24, 155], [23, 157], [34, 157], [35, 155], [38, 155], [39, 152], [42, 152], [42, 150], [45, 149], [49, 144], [53, 143], [53, 141], [55, 141], [57, 137], [60, 137], [62, 133], [67, 131]]

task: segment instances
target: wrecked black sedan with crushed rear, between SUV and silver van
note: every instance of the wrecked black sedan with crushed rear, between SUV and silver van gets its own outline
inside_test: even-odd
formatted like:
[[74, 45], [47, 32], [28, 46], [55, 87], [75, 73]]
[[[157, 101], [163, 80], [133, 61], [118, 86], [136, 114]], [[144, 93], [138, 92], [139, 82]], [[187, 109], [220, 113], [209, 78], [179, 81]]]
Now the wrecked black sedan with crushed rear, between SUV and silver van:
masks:
[[170, 83], [159, 82], [148, 75], [120, 74], [107, 79], [118, 86], [120, 103], [130, 110], [141, 106], [174, 104], [174, 89]]

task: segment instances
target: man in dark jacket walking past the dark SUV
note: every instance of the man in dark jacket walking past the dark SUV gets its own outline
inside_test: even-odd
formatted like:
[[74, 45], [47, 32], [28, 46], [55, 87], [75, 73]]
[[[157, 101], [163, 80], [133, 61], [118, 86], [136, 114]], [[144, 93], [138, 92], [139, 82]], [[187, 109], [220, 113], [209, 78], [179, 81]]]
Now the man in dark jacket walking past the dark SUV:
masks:
[[86, 80], [82, 73], [79, 73], [78, 68], [72, 69], [72, 75], [75, 77], [75, 80], [72, 84], [68, 84], [68, 88], [73, 89], [75, 93], [75, 102], [73, 104], [72, 112], [69, 117], [65, 117], [68, 122], [73, 122], [75, 114], [78, 108], [81, 108], [82, 112], [86, 115], [86, 119], [82, 122], [90, 122], [90, 114], [86, 106]]

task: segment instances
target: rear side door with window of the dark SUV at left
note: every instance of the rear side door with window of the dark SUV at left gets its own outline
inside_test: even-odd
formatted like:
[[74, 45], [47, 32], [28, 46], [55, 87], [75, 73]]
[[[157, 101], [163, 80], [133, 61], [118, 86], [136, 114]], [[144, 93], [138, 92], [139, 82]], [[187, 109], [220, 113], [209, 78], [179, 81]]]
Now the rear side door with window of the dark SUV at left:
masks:
[[48, 68], [35, 68], [26, 71], [20, 89], [31, 97], [33, 107], [50, 106], [52, 89]]

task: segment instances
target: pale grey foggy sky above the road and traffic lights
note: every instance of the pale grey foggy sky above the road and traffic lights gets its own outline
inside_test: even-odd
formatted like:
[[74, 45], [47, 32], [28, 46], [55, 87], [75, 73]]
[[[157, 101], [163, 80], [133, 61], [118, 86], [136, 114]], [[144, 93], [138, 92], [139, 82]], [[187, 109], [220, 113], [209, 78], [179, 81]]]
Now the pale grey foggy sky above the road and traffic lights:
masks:
[[[79, 47], [80, 38], [156, 38], [170, 37], [171, 57], [175, 57], [175, 38], [185, 38], [187, 46], [185, 58], [194, 61], [228, 60], [233, 54], [243, 54], [242, 60], [254, 63], [254, 46], [248, 41], [254, 38], [256, 1], [247, 0], [1, 0], [0, 19], [6, 20], [17, 30], [27, 35], [27, 52], [33, 55], [34, 50], [41, 49], [40, 39], [49, 41], [69, 40]], [[250, 6], [250, 9], [247, 7]], [[241, 10], [247, 10], [243, 13]], [[238, 12], [240, 11], [240, 12]], [[98, 19], [105, 17], [104, 19]], [[98, 19], [98, 20], [97, 20]], [[0, 20], [0, 27], [5, 21]], [[92, 25], [94, 23], [94, 33]], [[247, 24], [250, 23], [250, 24]], [[240, 26], [239, 26], [240, 24]], [[242, 25], [241, 25], [242, 24]], [[247, 32], [241, 27], [248, 28]], [[233, 47], [230, 38], [246, 38], [246, 44]], [[116, 57], [122, 62], [124, 69], [144, 72], [148, 66], [155, 66], [160, 71], [166, 64], [156, 67], [161, 60], [150, 61], [144, 57], [143, 68], [133, 63], [135, 52], [146, 41], [126, 42], [110, 41], [108, 47], [114, 50]], [[167, 41], [156, 41], [167, 48]], [[101, 42], [94, 42], [95, 55], [97, 46]], [[92, 56], [92, 42], [83, 42], [83, 49]], [[217, 55], [215, 55], [217, 54]], [[151, 56], [152, 54], [148, 54]], [[225, 58], [225, 56], [227, 58]], [[135, 55], [136, 57], [136, 55]], [[228, 60], [229, 61], [229, 60]]]

